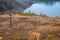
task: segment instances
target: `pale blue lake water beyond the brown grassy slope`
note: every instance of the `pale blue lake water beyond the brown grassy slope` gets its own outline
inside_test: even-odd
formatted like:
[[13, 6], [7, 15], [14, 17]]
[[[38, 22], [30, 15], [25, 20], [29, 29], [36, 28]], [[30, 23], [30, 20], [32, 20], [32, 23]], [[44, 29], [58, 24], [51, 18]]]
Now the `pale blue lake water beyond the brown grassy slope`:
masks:
[[60, 16], [60, 1], [36, 2], [24, 10], [24, 12], [29, 11], [36, 14], [44, 13], [48, 16]]

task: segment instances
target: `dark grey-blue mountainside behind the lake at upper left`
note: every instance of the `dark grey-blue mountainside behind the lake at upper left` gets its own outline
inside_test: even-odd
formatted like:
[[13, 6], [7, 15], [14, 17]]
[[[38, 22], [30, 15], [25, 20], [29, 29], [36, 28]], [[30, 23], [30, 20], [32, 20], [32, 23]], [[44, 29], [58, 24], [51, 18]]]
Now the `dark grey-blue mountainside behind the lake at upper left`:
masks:
[[0, 12], [7, 10], [24, 10], [32, 4], [32, 0], [0, 0]]

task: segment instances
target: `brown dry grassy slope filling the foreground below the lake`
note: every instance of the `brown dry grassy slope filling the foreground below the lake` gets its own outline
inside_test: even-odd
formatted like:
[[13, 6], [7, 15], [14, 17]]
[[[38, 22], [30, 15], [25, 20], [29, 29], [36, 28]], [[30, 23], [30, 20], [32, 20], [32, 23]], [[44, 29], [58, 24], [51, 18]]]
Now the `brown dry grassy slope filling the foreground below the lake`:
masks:
[[60, 40], [59, 17], [11, 14], [0, 15], [0, 40]]

